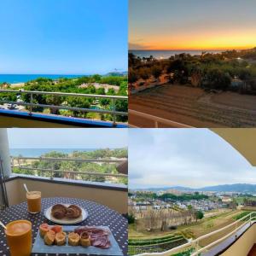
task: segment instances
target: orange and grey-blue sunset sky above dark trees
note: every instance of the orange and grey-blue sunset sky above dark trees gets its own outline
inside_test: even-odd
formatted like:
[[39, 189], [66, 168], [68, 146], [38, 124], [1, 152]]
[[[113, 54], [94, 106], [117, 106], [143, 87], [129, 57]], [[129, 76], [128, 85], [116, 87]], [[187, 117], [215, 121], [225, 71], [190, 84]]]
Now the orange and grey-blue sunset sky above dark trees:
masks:
[[255, 0], [130, 0], [129, 49], [256, 46]]

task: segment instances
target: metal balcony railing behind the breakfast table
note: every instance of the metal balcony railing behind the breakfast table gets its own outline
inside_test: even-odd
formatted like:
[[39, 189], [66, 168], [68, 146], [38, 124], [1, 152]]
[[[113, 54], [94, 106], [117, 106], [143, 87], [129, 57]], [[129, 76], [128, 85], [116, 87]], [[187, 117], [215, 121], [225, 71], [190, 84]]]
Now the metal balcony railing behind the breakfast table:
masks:
[[53, 157], [11, 157], [11, 166], [17, 167], [20, 170], [25, 171], [32, 171], [32, 172], [39, 172], [39, 173], [48, 173], [49, 177], [51, 179], [54, 179], [55, 173], [62, 173], [62, 174], [70, 174], [73, 176], [96, 176], [96, 177], [127, 177], [127, 175], [122, 173], [101, 173], [101, 172], [76, 172], [76, 171], [66, 171], [66, 170], [55, 170], [54, 167], [51, 169], [48, 168], [38, 168], [38, 167], [32, 167], [29, 166], [30, 163], [22, 163], [26, 160], [44, 160], [49, 161], [52, 163], [58, 162], [58, 161], [73, 161], [73, 162], [79, 162], [79, 163], [121, 163], [125, 159], [79, 159], [79, 158], [53, 158]]

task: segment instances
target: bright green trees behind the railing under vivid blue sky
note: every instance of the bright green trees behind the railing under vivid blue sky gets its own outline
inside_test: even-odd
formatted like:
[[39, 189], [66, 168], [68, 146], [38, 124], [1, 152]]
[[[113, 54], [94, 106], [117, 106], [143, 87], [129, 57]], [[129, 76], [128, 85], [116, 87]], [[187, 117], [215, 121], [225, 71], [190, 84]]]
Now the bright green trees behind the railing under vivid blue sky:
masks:
[[[97, 88], [96, 84], [110, 84], [118, 86], [118, 91], [110, 88], [105, 90], [103, 87]], [[86, 85], [84, 85], [86, 84]], [[10, 86], [8, 86], [8, 89]], [[12, 88], [13, 90], [20, 90], [20, 88]], [[23, 90], [36, 90], [36, 91], [49, 91], [49, 92], [67, 92], [67, 93], [81, 93], [81, 94], [95, 94], [95, 95], [108, 95], [108, 96], [127, 96], [127, 76], [101, 76], [93, 75], [87, 77], [81, 77], [79, 79], [59, 79], [57, 81], [53, 79], [38, 78], [27, 82], [23, 87]], [[16, 101], [16, 95], [14, 93], [1, 93], [0, 100]], [[24, 102], [30, 102], [30, 95], [21, 94], [21, 100]], [[113, 101], [109, 99], [86, 98], [79, 96], [33, 96], [33, 103], [45, 104], [45, 105], [62, 105], [74, 108], [102, 108], [106, 110], [113, 109]], [[123, 100], [117, 100], [115, 103], [115, 109], [121, 112], [127, 112], [128, 102]], [[47, 112], [45, 108], [33, 108], [34, 112]], [[111, 114], [100, 113], [84, 113], [78, 111], [58, 110], [55, 108], [49, 108], [49, 113], [61, 114], [67, 116], [75, 116], [82, 118], [94, 118], [102, 120], [113, 120]], [[127, 117], [117, 116], [117, 121], [126, 122]]]

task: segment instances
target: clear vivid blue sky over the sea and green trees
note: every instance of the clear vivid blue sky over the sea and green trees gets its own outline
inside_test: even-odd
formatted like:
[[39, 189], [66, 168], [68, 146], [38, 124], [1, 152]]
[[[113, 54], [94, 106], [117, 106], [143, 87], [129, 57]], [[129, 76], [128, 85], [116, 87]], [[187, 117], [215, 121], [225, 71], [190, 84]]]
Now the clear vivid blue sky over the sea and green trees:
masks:
[[1, 0], [0, 73], [127, 70], [127, 0]]

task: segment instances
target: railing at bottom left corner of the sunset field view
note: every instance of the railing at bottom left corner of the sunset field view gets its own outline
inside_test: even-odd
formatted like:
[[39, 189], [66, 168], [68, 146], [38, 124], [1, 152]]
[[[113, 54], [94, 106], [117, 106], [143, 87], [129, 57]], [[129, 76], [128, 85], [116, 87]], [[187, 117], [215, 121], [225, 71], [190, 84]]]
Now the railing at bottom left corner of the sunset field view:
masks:
[[[128, 113], [129, 113], [130, 116], [135, 115], [135, 116], [138, 116], [138, 117], [141, 117], [141, 118], [144, 118], [144, 119], [149, 119], [151, 121], [154, 121], [154, 128], [158, 128], [159, 124], [168, 125], [169, 127], [172, 127], [172, 128], [193, 128], [192, 126], [189, 126], [189, 125], [184, 125], [184, 124], [172, 121], [172, 120], [163, 119], [163, 118], [160, 118], [158, 116], [155, 116], [155, 115], [152, 115], [152, 114], [149, 114], [149, 113], [139, 112], [137, 110], [129, 109]], [[131, 125], [131, 123], [129, 123], [129, 126], [132, 127], [132, 128], [138, 128], [139, 127], [137, 125]]]

